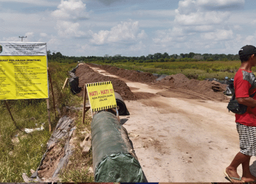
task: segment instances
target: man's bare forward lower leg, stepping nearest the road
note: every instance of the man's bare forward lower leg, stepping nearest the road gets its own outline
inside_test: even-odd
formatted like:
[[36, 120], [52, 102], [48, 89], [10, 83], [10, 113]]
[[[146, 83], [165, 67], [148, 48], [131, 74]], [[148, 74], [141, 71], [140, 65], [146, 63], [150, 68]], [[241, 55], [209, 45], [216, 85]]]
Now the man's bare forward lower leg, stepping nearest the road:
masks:
[[[237, 168], [240, 164], [244, 165], [246, 168], [246, 165], [244, 164], [244, 162], [246, 162], [248, 158], [250, 162], [251, 156], [247, 156], [241, 152], [237, 153], [235, 155], [235, 158], [232, 160], [231, 164], [226, 168], [226, 173], [229, 175], [229, 177], [240, 178], [239, 174], [237, 173]], [[232, 182], [241, 182], [241, 181], [232, 179]]]

